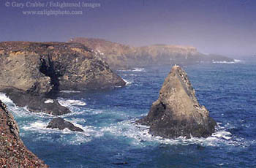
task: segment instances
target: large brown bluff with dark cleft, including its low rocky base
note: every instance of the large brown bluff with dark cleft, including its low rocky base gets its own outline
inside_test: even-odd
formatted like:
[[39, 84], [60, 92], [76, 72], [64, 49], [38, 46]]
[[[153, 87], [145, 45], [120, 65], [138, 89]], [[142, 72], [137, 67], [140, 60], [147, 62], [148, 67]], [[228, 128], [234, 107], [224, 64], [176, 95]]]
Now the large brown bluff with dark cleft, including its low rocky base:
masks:
[[53, 115], [69, 112], [56, 101], [43, 103], [43, 98], [54, 98], [61, 90], [94, 90], [123, 85], [124, 80], [84, 45], [0, 42], [0, 91], [7, 93], [15, 103], [28, 105], [33, 112]]

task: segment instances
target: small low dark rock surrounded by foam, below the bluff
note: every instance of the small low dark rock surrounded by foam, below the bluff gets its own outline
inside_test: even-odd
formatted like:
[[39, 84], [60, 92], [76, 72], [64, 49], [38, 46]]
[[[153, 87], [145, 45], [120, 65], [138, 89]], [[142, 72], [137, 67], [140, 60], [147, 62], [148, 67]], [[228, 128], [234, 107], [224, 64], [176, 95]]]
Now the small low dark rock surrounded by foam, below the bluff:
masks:
[[83, 131], [83, 129], [74, 126], [74, 124], [69, 121], [65, 121], [63, 118], [53, 118], [52, 121], [48, 124], [47, 128], [50, 129], [69, 129], [70, 131]]

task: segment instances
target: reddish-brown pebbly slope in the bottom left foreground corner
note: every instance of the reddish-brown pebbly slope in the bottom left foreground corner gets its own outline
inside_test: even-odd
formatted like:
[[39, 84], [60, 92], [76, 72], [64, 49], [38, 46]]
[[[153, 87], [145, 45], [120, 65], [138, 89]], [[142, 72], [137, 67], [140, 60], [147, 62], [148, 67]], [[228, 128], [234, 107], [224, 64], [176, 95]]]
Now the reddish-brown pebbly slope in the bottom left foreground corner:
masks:
[[1, 101], [0, 118], [0, 167], [48, 167], [20, 140], [18, 125]]

